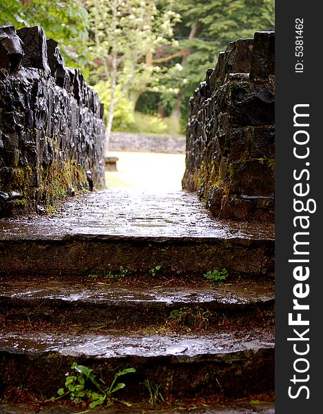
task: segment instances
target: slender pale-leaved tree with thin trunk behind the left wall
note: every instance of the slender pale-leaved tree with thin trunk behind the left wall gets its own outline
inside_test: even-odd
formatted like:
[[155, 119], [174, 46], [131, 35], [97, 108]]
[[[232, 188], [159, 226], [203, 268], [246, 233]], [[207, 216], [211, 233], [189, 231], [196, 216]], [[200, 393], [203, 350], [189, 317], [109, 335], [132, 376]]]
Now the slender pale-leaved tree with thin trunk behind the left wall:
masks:
[[92, 78], [110, 90], [106, 140], [110, 139], [114, 110], [120, 99], [136, 99], [152, 77], [156, 48], [174, 40], [174, 25], [180, 15], [158, 8], [157, 0], [88, 0]]

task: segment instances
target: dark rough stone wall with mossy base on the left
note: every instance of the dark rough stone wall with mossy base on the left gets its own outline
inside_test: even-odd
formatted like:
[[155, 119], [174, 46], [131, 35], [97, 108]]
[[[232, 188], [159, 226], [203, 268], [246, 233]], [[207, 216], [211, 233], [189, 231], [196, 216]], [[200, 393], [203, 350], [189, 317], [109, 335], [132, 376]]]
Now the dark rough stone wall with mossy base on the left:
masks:
[[0, 26], [0, 215], [104, 187], [103, 106], [39, 27]]

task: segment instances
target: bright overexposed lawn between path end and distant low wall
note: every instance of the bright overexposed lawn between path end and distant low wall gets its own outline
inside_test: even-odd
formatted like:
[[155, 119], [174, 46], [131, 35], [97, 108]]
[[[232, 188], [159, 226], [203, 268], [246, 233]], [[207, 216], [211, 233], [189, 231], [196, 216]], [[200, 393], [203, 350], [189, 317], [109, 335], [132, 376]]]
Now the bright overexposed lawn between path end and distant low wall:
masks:
[[182, 189], [185, 155], [155, 152], [109, 152], [118, 157], [118, 171], [105, 172], [107, 187], [143, 188], [156, 191]]

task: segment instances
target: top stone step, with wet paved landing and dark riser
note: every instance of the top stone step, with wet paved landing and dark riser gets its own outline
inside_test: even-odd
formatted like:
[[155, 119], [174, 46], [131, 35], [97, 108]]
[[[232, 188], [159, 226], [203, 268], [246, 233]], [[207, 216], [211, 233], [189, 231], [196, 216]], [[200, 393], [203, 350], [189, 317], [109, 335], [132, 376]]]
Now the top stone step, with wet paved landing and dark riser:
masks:
[[89, 275], [115, 272], [202, 277], [273, 275], [269, 226], [215, 221], [185, 192], [109, 189], [65, 203], [52, 217], [0, 221], [0, 274]]

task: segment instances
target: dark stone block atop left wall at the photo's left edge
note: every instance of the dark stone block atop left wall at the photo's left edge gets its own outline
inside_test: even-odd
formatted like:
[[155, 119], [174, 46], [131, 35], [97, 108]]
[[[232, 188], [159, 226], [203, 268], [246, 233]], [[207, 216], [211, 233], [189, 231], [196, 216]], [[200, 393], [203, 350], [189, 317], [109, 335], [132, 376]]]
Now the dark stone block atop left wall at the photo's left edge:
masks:
[[0, 26], [0, 68], [18, 70], [24, 54], [23, 41], [14, 26]]

